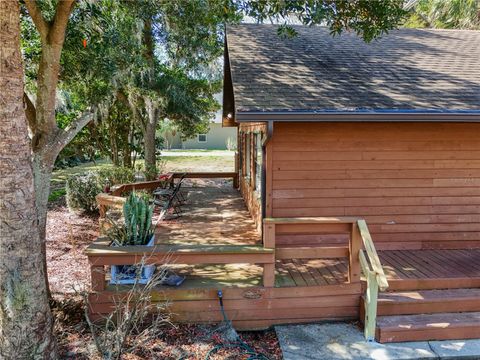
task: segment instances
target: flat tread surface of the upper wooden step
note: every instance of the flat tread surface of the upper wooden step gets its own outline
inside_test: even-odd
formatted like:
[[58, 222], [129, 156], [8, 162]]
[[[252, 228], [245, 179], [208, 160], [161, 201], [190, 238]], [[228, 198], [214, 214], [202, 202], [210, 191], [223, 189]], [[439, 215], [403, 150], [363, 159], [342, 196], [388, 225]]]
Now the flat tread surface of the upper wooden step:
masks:
[[[480, 289], [443, 289], [443, 290], [419, 290], [398, 291], [378, 294], [379, 303], [402, 303], [402, 302], [444, 302], [465, 299], [480, 299]], [[480, 302], [479, 302], [480, 305]]]

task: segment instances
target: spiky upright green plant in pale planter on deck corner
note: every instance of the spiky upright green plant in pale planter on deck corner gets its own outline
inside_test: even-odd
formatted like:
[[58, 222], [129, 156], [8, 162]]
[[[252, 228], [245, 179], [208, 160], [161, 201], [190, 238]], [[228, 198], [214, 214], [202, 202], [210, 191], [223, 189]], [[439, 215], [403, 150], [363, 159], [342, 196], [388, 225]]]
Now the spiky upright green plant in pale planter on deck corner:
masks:
[[[153, 206], [146, 196], [131, 193], [123, 205], [123, 223], [111, 222], [107, 231], [112, 246], [154, 246]], [[146, 284], [155, 265], [112, 265], [111, 284]]]

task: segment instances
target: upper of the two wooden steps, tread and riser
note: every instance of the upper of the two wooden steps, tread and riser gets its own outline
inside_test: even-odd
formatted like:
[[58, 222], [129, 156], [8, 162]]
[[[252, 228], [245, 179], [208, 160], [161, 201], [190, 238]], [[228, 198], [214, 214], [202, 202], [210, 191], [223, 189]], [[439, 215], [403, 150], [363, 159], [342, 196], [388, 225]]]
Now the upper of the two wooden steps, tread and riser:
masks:
[[380, 293], [378, 315], [480, 311], [480, 289], [421, 290]]

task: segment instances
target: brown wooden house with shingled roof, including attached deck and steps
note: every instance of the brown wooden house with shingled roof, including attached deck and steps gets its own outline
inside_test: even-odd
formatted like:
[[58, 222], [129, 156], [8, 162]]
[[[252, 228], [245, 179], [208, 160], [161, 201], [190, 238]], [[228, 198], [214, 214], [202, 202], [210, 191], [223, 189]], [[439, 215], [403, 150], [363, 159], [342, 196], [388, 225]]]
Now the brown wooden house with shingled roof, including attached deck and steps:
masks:
[[227, 28], [235, 171], [171, 176], [233, 187], [182, 187], [183, 215], [159, 223], [154, 248], [89, 246], [91, 314], [122, 296], [107, 267], [146, 256], [186, 276], [152, 290], [174, 321], [353, 319], [380, 342], [480, 338], [480, 32], [401, 29], [365, 44], [296, 30]]

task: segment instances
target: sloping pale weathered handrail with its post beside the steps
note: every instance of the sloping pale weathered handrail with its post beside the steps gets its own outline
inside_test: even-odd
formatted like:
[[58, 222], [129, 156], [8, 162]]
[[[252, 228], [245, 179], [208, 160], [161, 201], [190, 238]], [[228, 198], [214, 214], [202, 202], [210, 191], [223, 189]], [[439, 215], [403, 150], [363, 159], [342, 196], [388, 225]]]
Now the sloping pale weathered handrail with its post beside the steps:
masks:
[[377, 323], [378, 290], [385, 291], [388, 289], [388, 281], [365, 220], [358, 220], [357, 228], [365, 249], [360, 250], [358, 253], [360, 268], [367, 280], [364, 334], [367, 341], [373, 341], [375, 339], [375, 327]]

